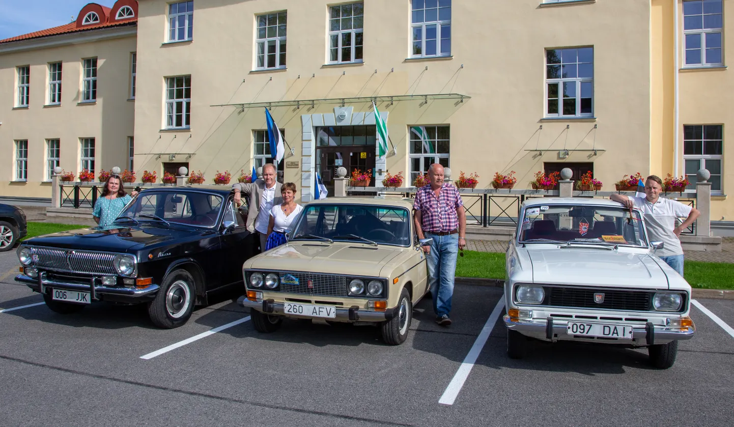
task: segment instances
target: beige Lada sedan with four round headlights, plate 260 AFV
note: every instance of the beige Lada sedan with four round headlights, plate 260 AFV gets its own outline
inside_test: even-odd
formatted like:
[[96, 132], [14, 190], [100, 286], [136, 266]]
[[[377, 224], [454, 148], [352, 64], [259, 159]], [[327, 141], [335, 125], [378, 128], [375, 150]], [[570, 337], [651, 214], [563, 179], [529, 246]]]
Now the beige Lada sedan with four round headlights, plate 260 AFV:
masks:
[[401, 199], [310, 202], [288, 243], [247, 260], [242, 274], [238, 302], [258, 332], [275, 332], [283, 318], [371, 323], [390, 345], [404, 342], [429, 291], [413, 205]]

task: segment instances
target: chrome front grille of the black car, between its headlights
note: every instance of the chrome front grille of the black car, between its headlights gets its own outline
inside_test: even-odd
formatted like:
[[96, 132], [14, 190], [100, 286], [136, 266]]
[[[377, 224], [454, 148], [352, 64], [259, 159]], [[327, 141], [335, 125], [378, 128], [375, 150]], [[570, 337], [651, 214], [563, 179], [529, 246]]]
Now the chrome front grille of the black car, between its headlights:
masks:
[[83, 274], [117, 274], [113, 253], [47, 247], [30, 249], [34, 266], [41, 269]]

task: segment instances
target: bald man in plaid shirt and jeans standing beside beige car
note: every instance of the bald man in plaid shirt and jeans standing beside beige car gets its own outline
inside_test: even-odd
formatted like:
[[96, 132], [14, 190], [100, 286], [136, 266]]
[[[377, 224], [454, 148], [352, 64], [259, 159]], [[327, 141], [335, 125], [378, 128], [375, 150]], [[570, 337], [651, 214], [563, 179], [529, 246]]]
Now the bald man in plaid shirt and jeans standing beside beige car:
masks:
[[466, 246], [466, 215], [459, 190], [443, 183], [443, 166], [432, 164], [428, 178], [429, 184], [415, 192], [415, 230], [418, 238], [433, 239], [421, 249], [426, 252], [436, 323], [448, 326], [457, 254]]

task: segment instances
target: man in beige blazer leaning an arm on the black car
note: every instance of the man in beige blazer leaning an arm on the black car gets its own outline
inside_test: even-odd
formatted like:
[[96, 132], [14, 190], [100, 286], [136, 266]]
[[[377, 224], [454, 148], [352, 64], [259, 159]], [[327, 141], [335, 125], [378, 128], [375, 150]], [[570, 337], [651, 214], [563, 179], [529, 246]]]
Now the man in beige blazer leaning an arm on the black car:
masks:
[[[265, 242], [268, 238], [268, 223], [270, 222], [270, 211], [275, 205], [283, 203], [280, 195], [280, 183], [275, 180], [277, 172], [272, 164], [263, 166], [263, 179], [254, 183], [234, 183], [234, 202], [239, 207], [241, 197], [249, 197], [250, 208], [247, 210], [247, 230], [250, 233], [259, 234], [259, 247], [253, 247], [255, 253], [265, 250]], [[253, 241], [253, 246], [258, 246], [258, 239]]]

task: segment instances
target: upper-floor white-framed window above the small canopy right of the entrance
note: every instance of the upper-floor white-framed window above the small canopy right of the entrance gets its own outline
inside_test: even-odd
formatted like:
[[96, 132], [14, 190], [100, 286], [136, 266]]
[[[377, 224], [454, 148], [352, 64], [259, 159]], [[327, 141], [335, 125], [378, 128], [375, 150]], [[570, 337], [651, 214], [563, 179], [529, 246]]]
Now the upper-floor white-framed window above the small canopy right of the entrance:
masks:
[[594, 116], [594, 48], [545, 50], [545, 116]]

